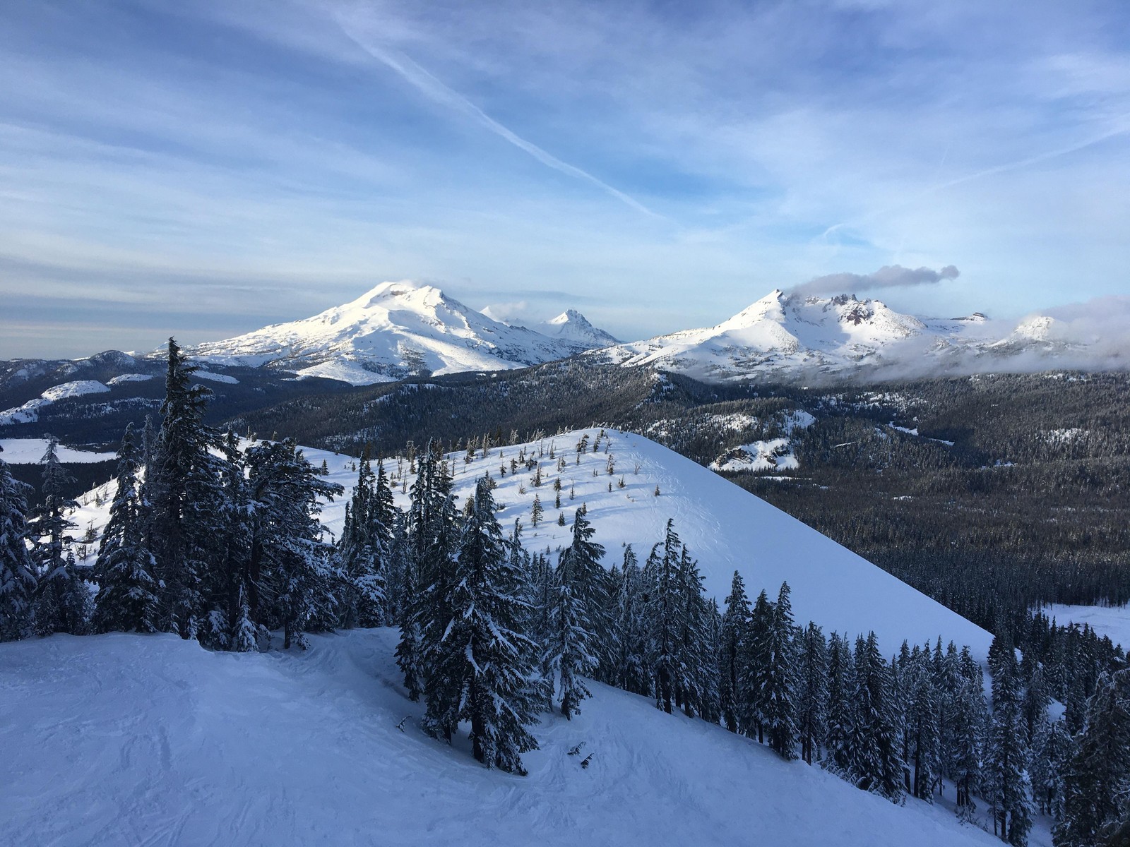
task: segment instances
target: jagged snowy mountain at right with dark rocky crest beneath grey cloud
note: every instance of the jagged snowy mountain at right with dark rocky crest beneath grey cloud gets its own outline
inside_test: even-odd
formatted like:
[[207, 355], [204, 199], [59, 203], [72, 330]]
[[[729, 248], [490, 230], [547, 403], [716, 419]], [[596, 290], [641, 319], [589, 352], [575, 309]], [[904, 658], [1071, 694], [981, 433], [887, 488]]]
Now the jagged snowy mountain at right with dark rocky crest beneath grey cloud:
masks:
[[625, 367], [651, 366], [707, 382], [1119, 366], [1110, 351], [1099, 355], [1067, 340], [1061, 323], [1037, 315], [1007, 324], [979, 312], [923, 318], [854, 295], [774, 290], [715, 326], [617, 344], [596, 355]]

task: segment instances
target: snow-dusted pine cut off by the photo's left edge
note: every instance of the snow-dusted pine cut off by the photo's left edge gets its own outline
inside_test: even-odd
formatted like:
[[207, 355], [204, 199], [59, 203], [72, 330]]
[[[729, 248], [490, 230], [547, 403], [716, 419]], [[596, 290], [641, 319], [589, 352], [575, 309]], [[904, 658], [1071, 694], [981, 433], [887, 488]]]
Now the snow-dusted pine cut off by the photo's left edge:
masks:
[[[2, 448], [0, 448], [2, 449]], [[32, 634], [35, 562], [28, 551], [27, 496], [0, 459], [0, 641]]]

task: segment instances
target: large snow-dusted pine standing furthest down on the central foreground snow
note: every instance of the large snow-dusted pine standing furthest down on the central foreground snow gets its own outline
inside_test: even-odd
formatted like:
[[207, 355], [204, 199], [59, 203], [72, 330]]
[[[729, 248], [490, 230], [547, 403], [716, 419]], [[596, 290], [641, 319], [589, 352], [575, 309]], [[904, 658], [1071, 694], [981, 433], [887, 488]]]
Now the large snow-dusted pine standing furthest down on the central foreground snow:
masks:
[[511, 558], [494, 510], [489, 481], [480, 479], [460, 542], [451, 625], [435, 663], [452, 682], [455, 718], [471, 724], [475, 758], [524, 774], [521, 753], [538, 746], [527, 730], [537, 723], [537, 647], [521, 631], [524, 575]]

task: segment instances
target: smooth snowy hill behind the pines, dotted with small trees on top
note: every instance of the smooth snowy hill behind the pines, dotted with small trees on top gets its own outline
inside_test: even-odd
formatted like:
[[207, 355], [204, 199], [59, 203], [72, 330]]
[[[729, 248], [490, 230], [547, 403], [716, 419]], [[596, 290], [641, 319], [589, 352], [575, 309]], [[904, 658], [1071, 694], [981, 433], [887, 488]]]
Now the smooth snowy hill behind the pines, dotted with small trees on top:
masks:
[[[624, 544], [632, 544], [643, 561], [652, 544], [662, 540], [668, 518], [673, 518], [676, 531], [698, 560], [707, 594], [719, 602], [729, 592], [733, 571], [739, 570], [751, 599], [763, 588], [775, 596], [781, 583], [788, 582], [799, 621], [815, 620], [826, 632], [836, 630], [852, 637], [873, 629], [887, 655], [895, 653], [904, 639], [921, 644], [940, 635], [947, 641], [968, 645], [981, 660], [986, 657], [989, 632], [816, 530], [643, 436], [609, 431], [600, 452], [592, 453], [599, 431], [572, 431], [537, 444], [507, 446], [502, 448], [502, 455], [498, 448], [492, 448], [489, 455], [484, 457], [480, 452], [470, 463], [463, 454], [454, 454], [455, 494], [460, 498], [471, 495], [476, 481], [489, 471], [498, 482], [495, 499], [502, 507], [499, 522], [508, 529], [520, 518], [525, 527], [522, 540], [536, 551], [568, 544], [573, 513], [584, 504], [597, 531], [596, 541], [608, 551], [606, 566], [621, 559]], [[581, 454], [577, 464], [576, 445], [585, 434], [589, 452]], [[537, 456], [539, 451], [545, 454], [538, 460], [544, 478], [540, 487], [531, 481], [533, 472], [521, 465], [518, 473], [510, 472], [511, 459], [522, 449], [527, 455]], [[550, 451], [566, 460], [564, 470], [557, 471]], [[338, 535], [348, 492], [357, 479], [355, 460], [319, 449], [307, 448], [305, 453], [314, 465], [324, 461], [329, 479], [346, 489], [346, 497], [329, 504], [321, 515], [323, 524]], [[609, 457], [614, 463], [611, 475], [607, 472]], [[408, 496], [400, 489], [402, 482], [411, 487], [408, 462], [391, 461], [385, 470], [395, 483], [397, 503], [407, 507]], [[564, 526], [557, 524], [558, 510], [554, 508], [554, 479], [558, 475]], [[619, 487], [621, 478], [624, 488]], [[102, 526], [112, 491], [106, 487], [102, 495], [101, 507], [93, 494], [82, 498], [87, 505], [71, 518], [78, 526]], [[531, 525], [534, 496], [545, 508], [538, 526]]]

